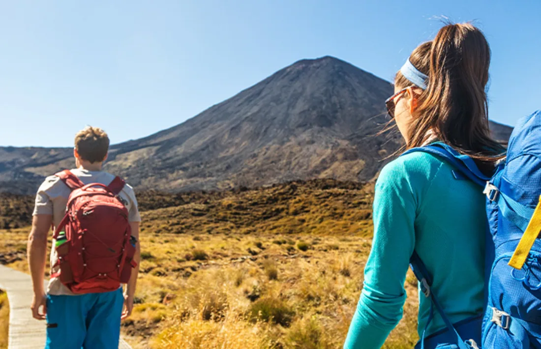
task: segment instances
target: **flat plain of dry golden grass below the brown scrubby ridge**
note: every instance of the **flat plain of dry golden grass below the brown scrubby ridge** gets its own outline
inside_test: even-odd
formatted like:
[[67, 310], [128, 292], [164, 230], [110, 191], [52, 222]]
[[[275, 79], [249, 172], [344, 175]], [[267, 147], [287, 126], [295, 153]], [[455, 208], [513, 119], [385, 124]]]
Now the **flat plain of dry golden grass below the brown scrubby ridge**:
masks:
[[[0, 231], [0, 239], [12, 248], [27, 233]], [[301, 240], [311, 245], [306, 252], [296, 248]], [[138, 304], [123, 323], [134, 348], [338, 348], [371, 246], [354, 235], [306, 234], [143, 234], [141, 244]], [[194, 260], [193, 251], [208, 259]], [[9, 266], [27, 271], [24, 259]], [[384, 348], [418, 339], [412, 280], [404, 319]]]

